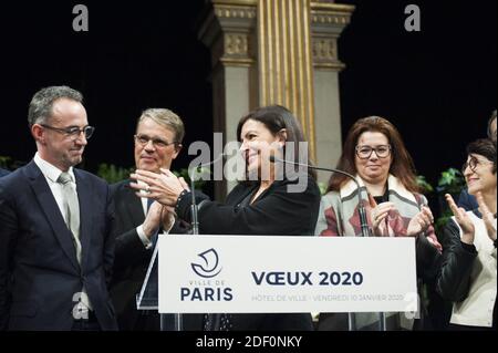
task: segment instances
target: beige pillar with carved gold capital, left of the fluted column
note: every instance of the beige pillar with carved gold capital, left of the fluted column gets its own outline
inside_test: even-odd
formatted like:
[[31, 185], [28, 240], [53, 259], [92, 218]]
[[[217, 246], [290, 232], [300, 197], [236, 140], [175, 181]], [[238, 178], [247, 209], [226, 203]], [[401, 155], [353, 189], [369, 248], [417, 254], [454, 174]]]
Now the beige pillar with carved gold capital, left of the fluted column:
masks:
[[[257, 102], [257, 0], [206, 1], [199, 39], [211, 52], [214, 132], [222, 133], [222, 146], [237, 141], [237, 124]], [[224, 199], [235, 181], [215, 184], [216, 199]]]

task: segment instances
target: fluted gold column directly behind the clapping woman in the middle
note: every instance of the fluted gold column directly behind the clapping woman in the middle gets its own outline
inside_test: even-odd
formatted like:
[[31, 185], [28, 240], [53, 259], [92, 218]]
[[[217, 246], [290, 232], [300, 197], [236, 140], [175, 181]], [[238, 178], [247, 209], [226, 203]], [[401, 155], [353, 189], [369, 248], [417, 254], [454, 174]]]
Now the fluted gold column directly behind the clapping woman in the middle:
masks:
[[260, 105], [287, 106], [300, 120], [315, 159], [310, 0], [258, 0]]

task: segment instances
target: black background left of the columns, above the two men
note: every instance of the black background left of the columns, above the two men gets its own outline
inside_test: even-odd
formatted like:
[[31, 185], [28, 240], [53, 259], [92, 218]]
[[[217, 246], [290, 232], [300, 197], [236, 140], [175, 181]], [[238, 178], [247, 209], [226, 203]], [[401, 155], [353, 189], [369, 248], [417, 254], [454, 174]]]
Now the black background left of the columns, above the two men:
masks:
[[[83, 93], [96, 127], [84, 156], [91, 172], [100, 163], [134, 166], [133, 135], [147, 107], [178, 113], [187, 147], [212, 141], [210, 54], [196, 29], [204, 1], [40, 2], [9, 3], [0, 13], [0, 97], [7, 107], [0, 155], [32, 158], [29, 102], [39, 89], [60, 84]], [[77, 3], [89, 8], [89, 32], [73, 31]], [[185, 152], [174, 167], [188, 160]]]

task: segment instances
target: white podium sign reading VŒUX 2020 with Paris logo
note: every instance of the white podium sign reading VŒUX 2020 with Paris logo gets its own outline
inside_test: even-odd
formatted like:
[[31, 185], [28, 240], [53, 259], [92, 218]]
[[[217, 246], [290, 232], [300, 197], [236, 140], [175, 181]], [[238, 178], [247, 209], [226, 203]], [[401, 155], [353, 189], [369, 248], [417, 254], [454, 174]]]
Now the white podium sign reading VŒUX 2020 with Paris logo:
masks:
[[407, 312], [415, 239], [159, 237], [160, 313]]

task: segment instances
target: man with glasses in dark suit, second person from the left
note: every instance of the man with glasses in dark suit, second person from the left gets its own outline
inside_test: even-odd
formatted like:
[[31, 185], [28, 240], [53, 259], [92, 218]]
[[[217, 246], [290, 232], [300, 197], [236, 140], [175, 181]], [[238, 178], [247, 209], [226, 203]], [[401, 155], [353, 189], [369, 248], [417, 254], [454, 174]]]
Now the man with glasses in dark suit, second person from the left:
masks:
[[[135, 165], [138, 169], [159, 173], [169, 169], [180, 149], [184, 124], [174, 112], [164, 108], [145, 111], [135, 134]], [[157, 232], [184, 233], [184, 224], [158, 203], [147, 204], [129, 187], [131, 180], [112, 186], [116, 206], [116, 259], [111, 297], [116, 308], [120, 330], [159, 330], [159, 315], [136, 309], [136, 294], [145, 280], [153, 255], [153, 237]], [[173, 227], [173, 228], [172, 228]], [[172, 318], [168, 326], [172, 330]], [[199, 326], [200, 329], [200, 326]]]

